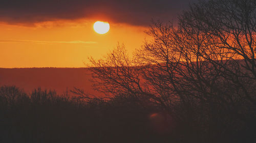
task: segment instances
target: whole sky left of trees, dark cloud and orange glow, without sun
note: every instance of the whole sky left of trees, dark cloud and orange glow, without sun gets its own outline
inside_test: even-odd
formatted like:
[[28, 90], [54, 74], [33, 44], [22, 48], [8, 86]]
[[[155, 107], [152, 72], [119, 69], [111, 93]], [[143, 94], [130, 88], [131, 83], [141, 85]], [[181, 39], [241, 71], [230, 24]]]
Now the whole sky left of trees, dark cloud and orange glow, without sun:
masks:
[[[128, 52], [151, 37], [151, 20], [177, 22], [196, 0], [2, 0], [0, 67], [85, 67], [88, 57], [101, 58], [119, 43]], [[100, 35], [95, 21], [110, 23]]]

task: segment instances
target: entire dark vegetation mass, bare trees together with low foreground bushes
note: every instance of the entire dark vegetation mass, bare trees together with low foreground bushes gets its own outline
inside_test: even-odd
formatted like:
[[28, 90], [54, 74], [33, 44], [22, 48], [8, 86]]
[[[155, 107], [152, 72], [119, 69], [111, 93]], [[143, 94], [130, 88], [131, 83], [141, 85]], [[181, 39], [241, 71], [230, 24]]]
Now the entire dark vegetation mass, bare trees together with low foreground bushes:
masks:
[[91, 59], [95, 90], [2, 87], [2, 142], [256, 142], [256, 2], [191, 5], [152, 41]]

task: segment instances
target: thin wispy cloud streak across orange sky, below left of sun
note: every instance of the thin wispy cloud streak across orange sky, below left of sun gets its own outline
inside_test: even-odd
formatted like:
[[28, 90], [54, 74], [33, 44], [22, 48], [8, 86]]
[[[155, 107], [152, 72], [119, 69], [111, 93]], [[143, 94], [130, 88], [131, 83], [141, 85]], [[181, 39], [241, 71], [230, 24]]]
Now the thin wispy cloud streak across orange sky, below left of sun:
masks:
[[40, 44], [53, 44], [53, 43], [66, 43], [66, 44], [96, 44], [95, 41], [35, 41], [35, 40], [16, 40], [16, 39], [0, 39], [0, 43], [11, 42], [28, 42], [28, 43], [40, 43]]

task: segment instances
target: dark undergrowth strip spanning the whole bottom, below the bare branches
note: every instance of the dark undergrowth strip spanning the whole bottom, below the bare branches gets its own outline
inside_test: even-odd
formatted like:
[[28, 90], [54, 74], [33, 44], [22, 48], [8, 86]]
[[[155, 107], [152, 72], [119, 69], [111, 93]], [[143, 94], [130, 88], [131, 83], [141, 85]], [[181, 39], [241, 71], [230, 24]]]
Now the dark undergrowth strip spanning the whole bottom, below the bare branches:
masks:
[[[128, 96], [109, 100], [26, 94], [0, 88], [0, 142], [254, 142], [254, 113], [233, 117], [218, 105], [198, 104], [176, 113]], [[211, 109], [211, 110], [210, 110]], [[241, 109], [242, 110], [242, 109]]]

